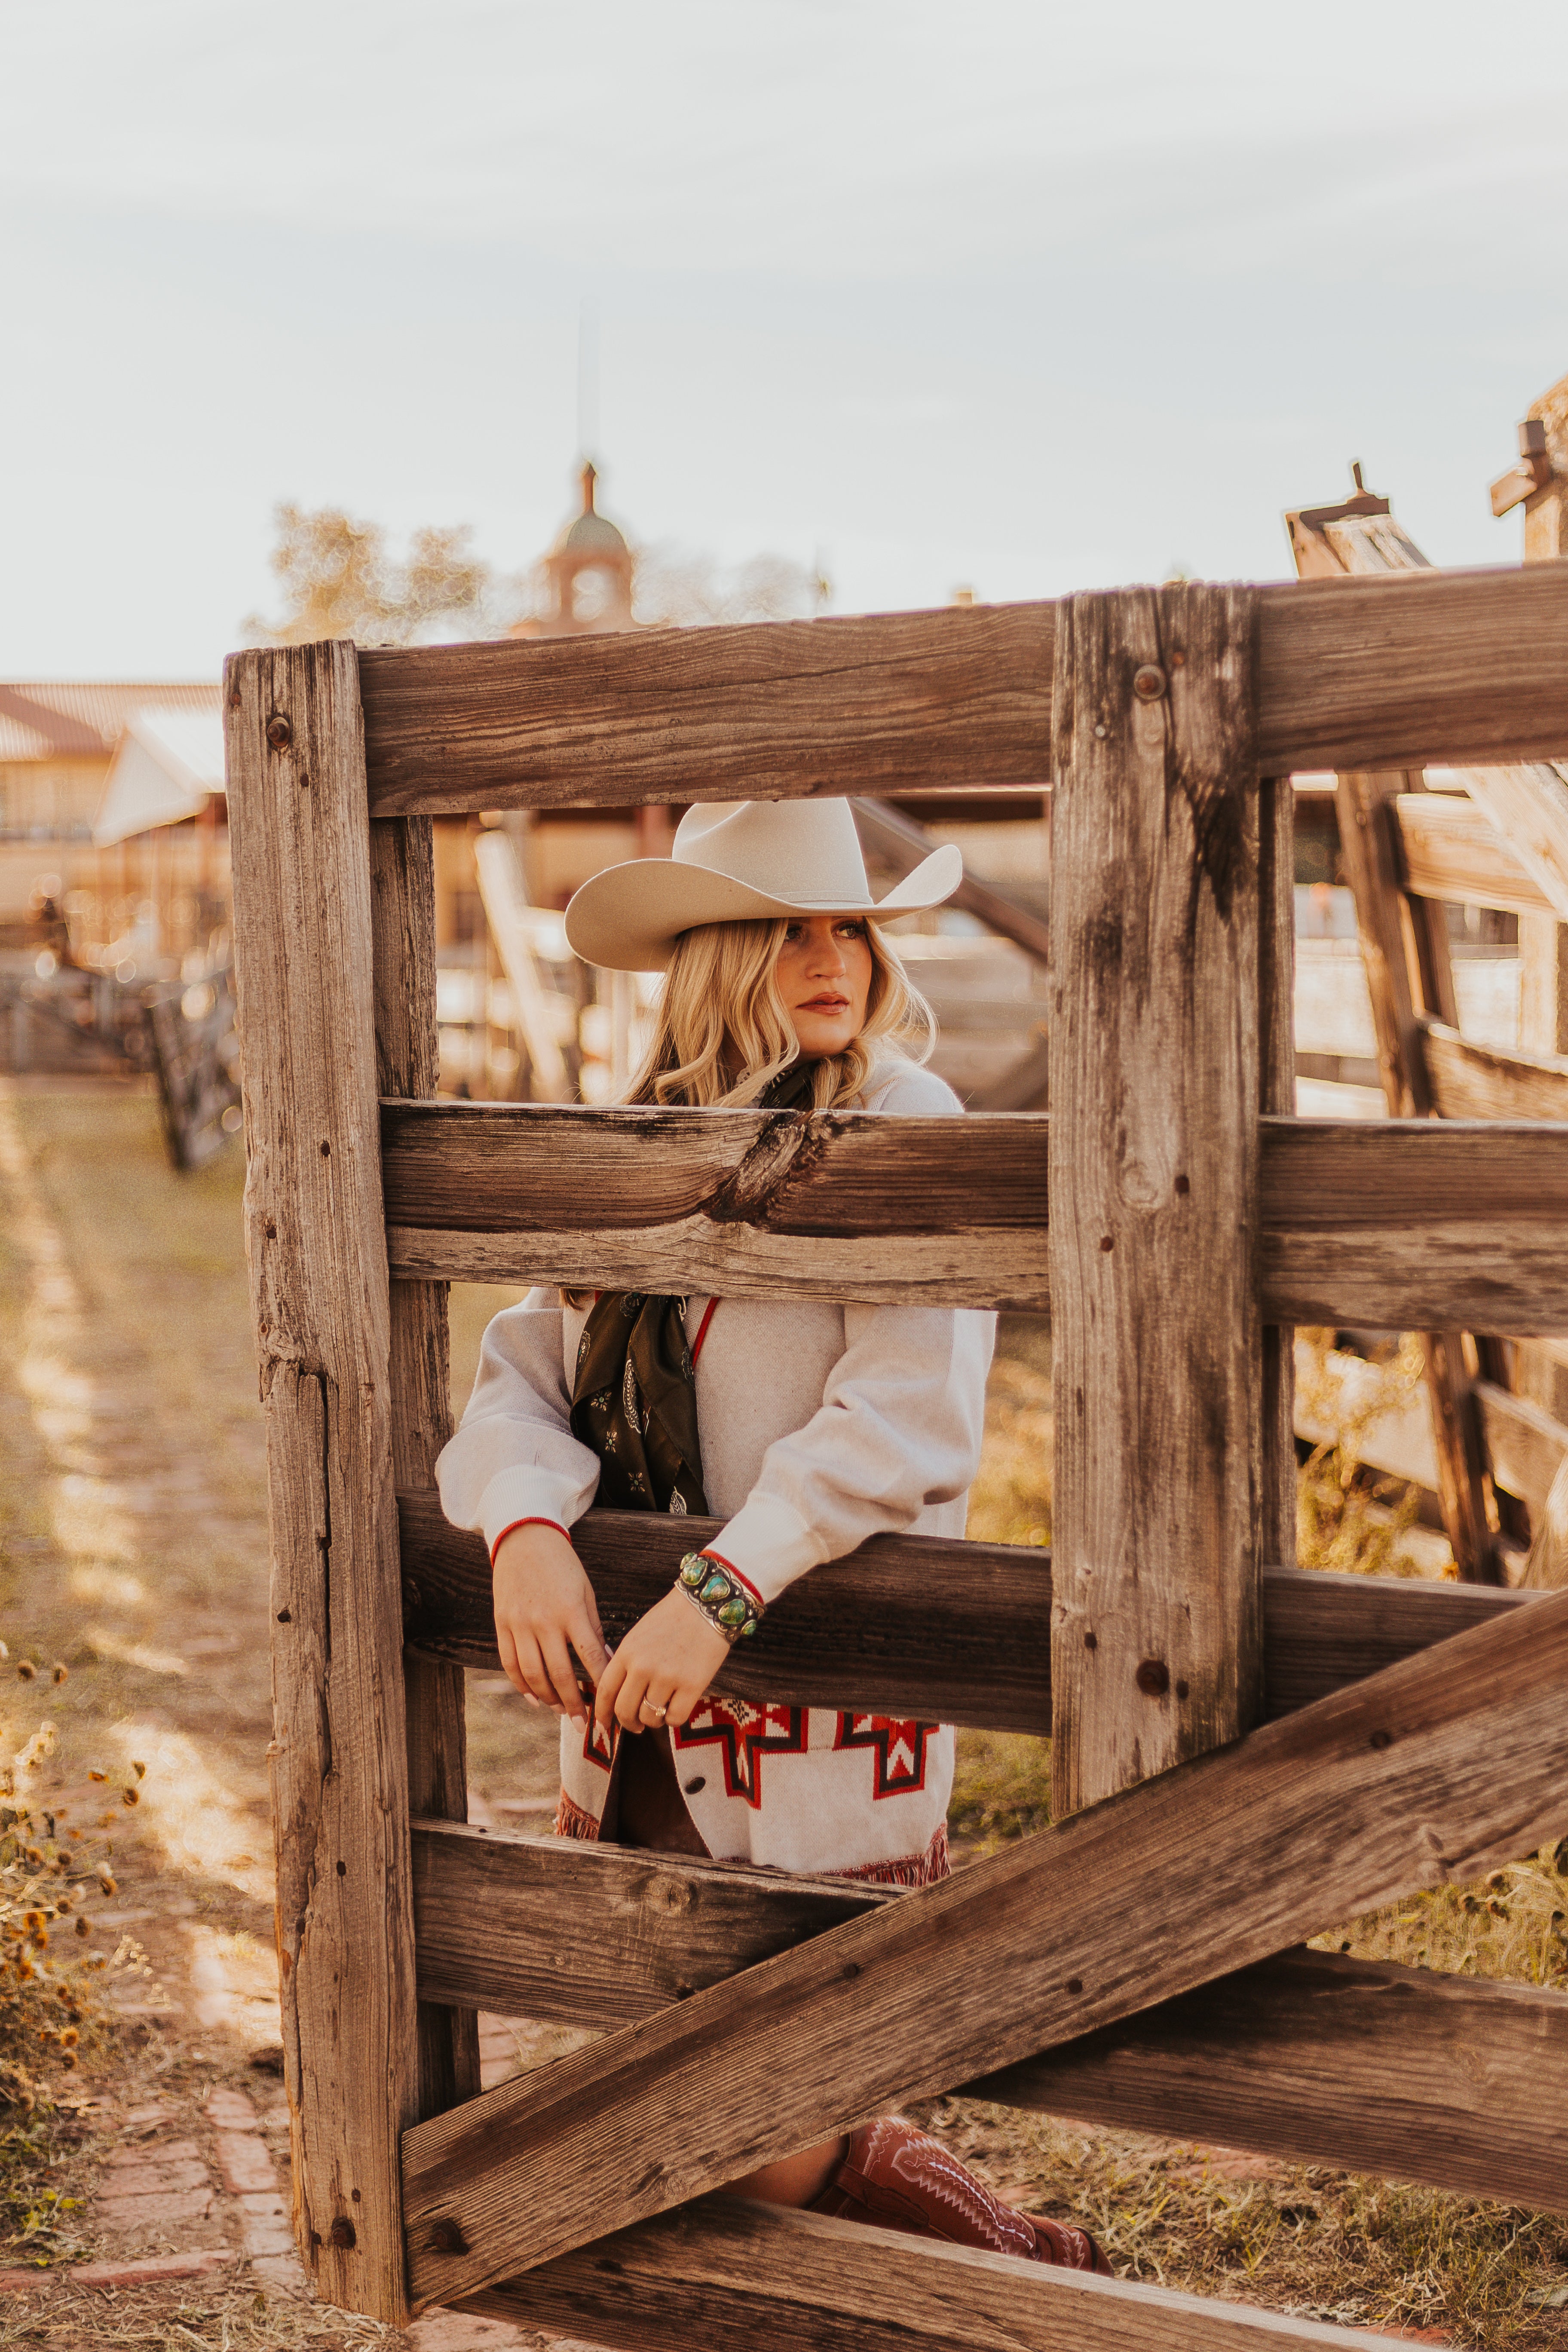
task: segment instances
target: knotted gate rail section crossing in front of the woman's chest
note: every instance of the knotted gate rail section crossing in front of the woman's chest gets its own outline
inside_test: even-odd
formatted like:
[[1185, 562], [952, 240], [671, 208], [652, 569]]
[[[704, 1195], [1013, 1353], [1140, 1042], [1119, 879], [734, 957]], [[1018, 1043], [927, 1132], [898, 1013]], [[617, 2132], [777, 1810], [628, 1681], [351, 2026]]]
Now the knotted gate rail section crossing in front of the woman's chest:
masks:
[[1044, 1129], [1027, 1117], [971, 1138], [969, 1122], [865, 1112], [388, 1103], [383, 1171], [390, 1263], [409, 1275], [1046, 1301]]

